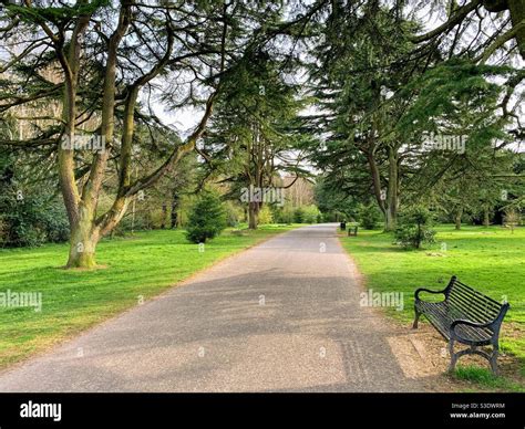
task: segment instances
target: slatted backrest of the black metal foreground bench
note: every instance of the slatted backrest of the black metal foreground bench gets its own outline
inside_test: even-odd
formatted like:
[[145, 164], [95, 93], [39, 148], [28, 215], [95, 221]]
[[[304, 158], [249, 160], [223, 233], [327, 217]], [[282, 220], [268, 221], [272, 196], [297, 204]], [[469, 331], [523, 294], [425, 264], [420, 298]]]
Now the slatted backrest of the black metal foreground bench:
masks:
[[451, 279], [445, 291], [446, 301], [451, 308], [465, 314], [469, 320], [477, 323], [487, 323], [502, 320], [508, 304], [502, 304], [475, 289], [460, 282], [455, 276]]

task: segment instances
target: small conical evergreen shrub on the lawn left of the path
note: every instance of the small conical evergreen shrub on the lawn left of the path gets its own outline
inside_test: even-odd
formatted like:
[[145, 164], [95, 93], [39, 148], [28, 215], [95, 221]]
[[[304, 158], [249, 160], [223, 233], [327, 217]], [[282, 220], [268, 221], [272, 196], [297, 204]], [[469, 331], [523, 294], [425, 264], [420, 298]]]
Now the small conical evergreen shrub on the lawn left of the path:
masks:
[[186, 238], [194, 243], [204, 243], [225, 228], [226, 213], [220, 198], [215, 192], [204, 192], [189, 211]]

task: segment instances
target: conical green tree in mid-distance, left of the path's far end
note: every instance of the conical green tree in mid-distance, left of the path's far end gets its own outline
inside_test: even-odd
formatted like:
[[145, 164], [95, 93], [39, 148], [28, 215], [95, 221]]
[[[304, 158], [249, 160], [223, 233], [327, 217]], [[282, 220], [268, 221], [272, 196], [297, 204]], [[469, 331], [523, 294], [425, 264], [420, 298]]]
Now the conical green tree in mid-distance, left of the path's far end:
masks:
[[[301, 102], [296, 85], [286, 81], [286, 64], [267, 50], [246, 55], [223, 87], [216, 115], [204, 140], [208, 174], [231, 186], [231, 196], [248, 196], [248, 224], [257, 229], [264, 192], [280, 184], [279, 172], [296, 179], [307, 175], [298, 150], [300, 135], [294, 129]], [[254, 197], [259, 196], [259, 197]], [[254, 198], [253, 198], [254, 197]], [[280, 201], [267, 201], [280, 202]]]

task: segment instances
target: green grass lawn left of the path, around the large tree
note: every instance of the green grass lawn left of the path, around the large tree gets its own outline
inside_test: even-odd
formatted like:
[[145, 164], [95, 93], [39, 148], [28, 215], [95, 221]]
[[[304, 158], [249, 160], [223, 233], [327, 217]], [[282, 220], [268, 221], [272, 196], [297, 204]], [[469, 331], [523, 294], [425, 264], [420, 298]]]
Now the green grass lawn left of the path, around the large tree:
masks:
[[297, 226], [225, 231], [204, 252], [183, 231], [103, 240], [93, 271], [63, 270], [65, 244], [0, 250], [0, 292], [41, 292], [42, 310], [0, 307], [0, 368], [137, 305], [220, 259]]

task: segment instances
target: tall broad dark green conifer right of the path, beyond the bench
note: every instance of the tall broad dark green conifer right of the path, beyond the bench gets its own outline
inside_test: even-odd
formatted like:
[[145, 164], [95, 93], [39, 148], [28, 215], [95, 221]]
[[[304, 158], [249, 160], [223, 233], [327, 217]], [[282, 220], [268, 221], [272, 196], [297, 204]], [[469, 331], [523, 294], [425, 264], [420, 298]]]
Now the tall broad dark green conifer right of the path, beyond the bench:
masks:
[[[431, 11], [440, 3], [432, 2]], [[418, 4], [326, 6], [310, 67], [320, 112], [312, 115], [310, 130], [322, 142], [312, 147], [312, 159], [334, 187], [364, 203], [372, 193], [387, 230], [395, 224], [400, 197], [421, 199], [462, 158], [449, 151], [434, 161], [436, 151], [428, 156], [422, 148], [425, 134], [467, 134], [470, 159], [485, 144], [500, 140], [500, 150], [509, 137], [522, 138], [515, 93], [523, 71], [485, 66], [495, 52], [501, 62], [511, 62], [507, 54], [515, 46], [506, 50], [509, 39], [500, 39], [508, 17], [495, 17], [491, 24], [482, 2], [471, 2], [469, 10], [455, 4], [446, 11], [451, 21], [424, 36]], [[456, 12], [469, 18], [454, 21]], [[440, 165], [431, 177], [423, 174], [428, 163]]]

